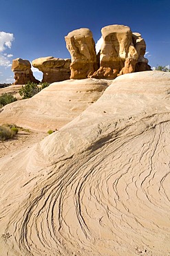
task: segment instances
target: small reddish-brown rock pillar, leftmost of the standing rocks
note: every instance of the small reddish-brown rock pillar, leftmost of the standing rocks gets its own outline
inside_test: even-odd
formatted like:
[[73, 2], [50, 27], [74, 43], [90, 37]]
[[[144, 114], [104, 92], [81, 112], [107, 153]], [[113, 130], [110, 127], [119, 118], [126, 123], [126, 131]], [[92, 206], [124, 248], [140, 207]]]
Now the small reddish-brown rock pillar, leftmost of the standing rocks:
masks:
[[39, 80], [36, 80], [32, 73], [31, 64], [28, 60], [21, 58], [12, 60], [12, 71], [14, 72], [14, 84], [39, 83]]

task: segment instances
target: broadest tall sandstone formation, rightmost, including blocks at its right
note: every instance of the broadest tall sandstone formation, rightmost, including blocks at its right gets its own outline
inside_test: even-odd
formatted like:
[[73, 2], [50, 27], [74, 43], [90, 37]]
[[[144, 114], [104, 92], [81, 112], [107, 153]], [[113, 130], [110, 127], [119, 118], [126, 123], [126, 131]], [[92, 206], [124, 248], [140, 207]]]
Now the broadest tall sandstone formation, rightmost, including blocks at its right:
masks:
[[106, 26], [101, 33], [100, 68], [92, 77], [114, 79], [126, 73], [151, 70], [144, 57], [146, 44], [139, 33], [132, 36], [131, 29], [123, 25]]

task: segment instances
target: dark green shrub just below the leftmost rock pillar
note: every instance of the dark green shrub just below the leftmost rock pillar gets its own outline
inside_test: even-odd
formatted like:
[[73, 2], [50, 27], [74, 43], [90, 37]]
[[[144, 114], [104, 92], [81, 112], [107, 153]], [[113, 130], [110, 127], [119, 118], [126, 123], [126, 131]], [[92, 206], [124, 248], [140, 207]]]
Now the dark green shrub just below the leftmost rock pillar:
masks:
[[19, 95], [21, 95], [23, 99], [28, 99], [32, 98], [36, 93], [39, 93], [39, 91], [41, 91], [41, 87], [39, 87], [38, 84], [28, 82], [25, 86], [21, 87]]

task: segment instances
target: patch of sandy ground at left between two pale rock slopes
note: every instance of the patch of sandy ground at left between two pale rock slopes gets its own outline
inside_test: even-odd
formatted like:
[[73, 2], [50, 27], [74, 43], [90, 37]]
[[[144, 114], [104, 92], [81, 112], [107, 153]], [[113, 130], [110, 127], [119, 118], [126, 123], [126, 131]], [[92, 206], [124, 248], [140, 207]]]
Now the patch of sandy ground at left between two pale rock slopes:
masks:
[[32, 144], [45, 138], [47, 134], [42, 131], [19, 131], [19, 133], [9, 140], [0, 140], [0, 158], [24, 147], [30, 147]]

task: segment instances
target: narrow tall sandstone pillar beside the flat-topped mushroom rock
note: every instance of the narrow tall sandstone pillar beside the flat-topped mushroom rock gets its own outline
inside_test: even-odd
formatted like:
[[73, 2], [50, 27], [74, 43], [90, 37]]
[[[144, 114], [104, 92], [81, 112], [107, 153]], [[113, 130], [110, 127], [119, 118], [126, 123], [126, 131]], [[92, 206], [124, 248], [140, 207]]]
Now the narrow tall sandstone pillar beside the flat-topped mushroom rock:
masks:
[[92, 32], [88, 28], [80, 28], [70, 32], [65, 42], [72, 56], [71, 79], [87, 78], [97, 70], [95, 43]]

